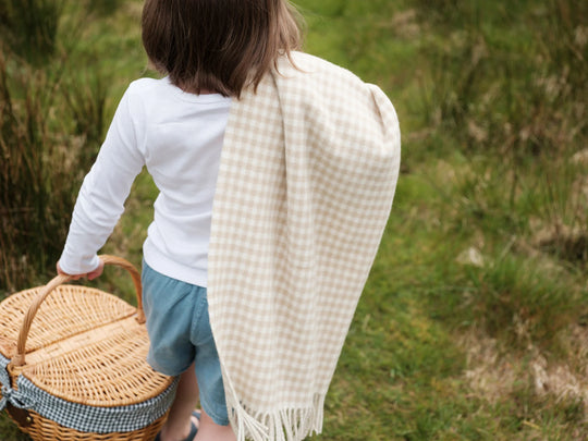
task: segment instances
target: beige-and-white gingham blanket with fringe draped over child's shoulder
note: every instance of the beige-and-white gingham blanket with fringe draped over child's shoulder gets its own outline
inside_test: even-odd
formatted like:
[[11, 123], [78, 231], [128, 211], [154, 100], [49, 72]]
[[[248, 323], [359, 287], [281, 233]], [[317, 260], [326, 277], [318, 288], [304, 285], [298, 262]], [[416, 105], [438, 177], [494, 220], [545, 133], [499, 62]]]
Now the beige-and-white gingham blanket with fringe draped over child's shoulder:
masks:
[[293, 58], [232, 105], [215, 196], [209, 313], [240, 441], [321, 431], [399, 175], [387, 96]]

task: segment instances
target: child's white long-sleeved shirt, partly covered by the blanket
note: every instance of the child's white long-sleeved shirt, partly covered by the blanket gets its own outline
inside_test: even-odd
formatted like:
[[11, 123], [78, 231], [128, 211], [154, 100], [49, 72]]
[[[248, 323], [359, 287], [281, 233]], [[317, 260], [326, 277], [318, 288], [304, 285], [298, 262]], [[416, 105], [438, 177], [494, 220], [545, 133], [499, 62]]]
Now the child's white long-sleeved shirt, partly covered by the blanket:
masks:
[[144, 243], [145, 261], [188, 283], [207, 285], [212, 199], [231, 99], [182, 91], [166, 77], [133, 82], [84, 179], [62, 270], [97, 268], [103, 246], [144, 166], [159, 189]]

